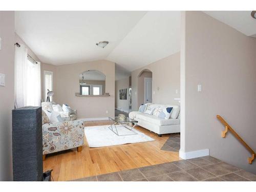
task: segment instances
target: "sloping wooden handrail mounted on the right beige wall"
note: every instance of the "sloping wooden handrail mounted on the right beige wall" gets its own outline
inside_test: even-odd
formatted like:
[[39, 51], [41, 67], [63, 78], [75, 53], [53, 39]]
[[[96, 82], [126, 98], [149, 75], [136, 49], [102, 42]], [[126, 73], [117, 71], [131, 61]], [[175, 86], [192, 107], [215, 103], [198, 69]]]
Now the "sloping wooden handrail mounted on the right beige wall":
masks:
[[217, 118], [225, 125], [225, 131], [222, 131], [221, 137], [225, 138], [228, 131], [230, 131], [246, 148], [247, 150], [252, 154], [252, 157], [248, 157], [248, 163], [251, 164], [255, 157], [255, 152], [252, 150], [249, 145], [235, 132], [232, 127], [220, 116], [217, 115]]

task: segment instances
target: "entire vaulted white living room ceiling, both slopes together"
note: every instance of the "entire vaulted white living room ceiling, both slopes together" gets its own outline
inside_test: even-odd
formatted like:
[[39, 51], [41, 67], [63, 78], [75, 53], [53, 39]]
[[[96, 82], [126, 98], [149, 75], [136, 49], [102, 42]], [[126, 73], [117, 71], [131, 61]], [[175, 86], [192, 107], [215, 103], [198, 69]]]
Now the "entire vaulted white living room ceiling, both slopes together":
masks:
[[41, 62], [107, 59], [117, 78], [180, 50], [179, 11], [16, 11], [15, 29]]

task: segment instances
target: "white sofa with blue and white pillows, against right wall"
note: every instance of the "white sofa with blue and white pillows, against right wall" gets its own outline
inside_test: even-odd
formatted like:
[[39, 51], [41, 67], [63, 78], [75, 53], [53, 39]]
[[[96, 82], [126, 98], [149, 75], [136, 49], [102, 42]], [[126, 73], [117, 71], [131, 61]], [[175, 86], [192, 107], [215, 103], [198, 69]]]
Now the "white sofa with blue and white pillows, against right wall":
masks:
[[139, 111], [133, 111], [129, 113], [129, 117], [138, 121], [138, 125], [144, 127], [147, 130], [155, 132], [159, 137], [162, 134], [168, 133], [180, 133], [180, 106], [170, 104], [153, 104], [148, 103], [148, 107], [151, 108], [167, 108], [173, 107], [169, 119], [161, 119], [155, 115], [148, 115]]

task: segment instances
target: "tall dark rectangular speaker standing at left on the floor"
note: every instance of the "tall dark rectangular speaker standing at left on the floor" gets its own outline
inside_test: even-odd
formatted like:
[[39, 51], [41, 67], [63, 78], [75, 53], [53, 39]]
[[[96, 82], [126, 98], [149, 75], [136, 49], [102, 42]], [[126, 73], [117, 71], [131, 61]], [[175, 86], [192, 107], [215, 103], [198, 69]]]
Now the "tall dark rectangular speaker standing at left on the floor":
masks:
[[14, 181], [42, 181], [42, 109], [12, 110]]

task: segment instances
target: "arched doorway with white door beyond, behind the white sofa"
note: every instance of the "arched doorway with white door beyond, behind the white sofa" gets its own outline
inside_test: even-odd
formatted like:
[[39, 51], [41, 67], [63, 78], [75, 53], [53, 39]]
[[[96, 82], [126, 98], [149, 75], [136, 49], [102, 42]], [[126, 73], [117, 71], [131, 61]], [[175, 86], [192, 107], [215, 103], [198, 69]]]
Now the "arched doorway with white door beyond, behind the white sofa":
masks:
[[138, 107], [143, 103], [152, 102], [152, 71], [142, 70], [138, 75]]

